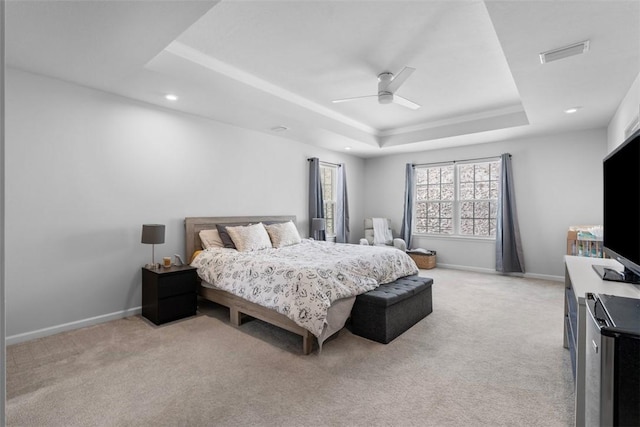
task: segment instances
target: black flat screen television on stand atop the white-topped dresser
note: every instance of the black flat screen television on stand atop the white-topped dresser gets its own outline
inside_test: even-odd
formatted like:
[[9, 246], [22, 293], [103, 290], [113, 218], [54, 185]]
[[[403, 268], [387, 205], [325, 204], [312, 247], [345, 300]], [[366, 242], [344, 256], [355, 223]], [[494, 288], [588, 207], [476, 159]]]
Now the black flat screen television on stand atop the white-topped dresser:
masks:
[[604, 280], [640, 284], [640, 130], [603, 161], [603, 247], [623, 270], [594, 266]]

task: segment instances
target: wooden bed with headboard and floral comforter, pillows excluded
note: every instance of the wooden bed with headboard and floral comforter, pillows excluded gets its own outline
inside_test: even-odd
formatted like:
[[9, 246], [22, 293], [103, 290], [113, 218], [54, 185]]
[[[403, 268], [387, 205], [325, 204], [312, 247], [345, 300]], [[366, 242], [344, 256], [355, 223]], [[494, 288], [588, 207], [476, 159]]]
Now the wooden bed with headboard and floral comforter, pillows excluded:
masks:
[[[200, 239], [202, 230], [212, 230], [218, 225], [257, 224], [259, 222], [269, 224], [288, 221], [295, 224], [295, 216], [188, 217], [185, 219], [186, 255], [191, 257], [196, 251], [202, 249], [202, 241]], [[322, 342], [326, 338], [344, 326], [353, 306], [355, 295], [374, 289], [384, 283], [385, 280], [393, 281], [397, 277], [418, 272], [413, 260], [401, 251], [392, 248], [366, 248], [360, 245], [336, 245], [328, 242], [302, 239], [297, 245], [280, 249], [269, 248], [255, 252], [212, 248], [198, 255], [193, 260], [192, 265], [198, 267], [198, 275], [201, 279], [198, 288], [199, 295], [228, 307], [232, 324], [239, 326], [243, 315], [247, 315], [286, 329], [302, 337], [302, 352], [303, 354], [309, 354], [313, 348], [314, 339], [317, 338], [321, 348]], [[336, 251], [342, 252], [333, 255], [332, 253]], [[346, 251], [367, 251], [364, 255], [354, 255], [358, 257], [366, 256], [367, 258], [363, 258], [363, 260], [354, 258], [352, 260], [350, 258], [351, 255]], [[332, 256], [336, 261], [330, 260]], [[370, 263], [369, 258], [374, 259], [375, 257], [377, 257], [376, 262], [378, 264], [368, 264]], [[272, 292], [269, 295], [264, 292], [265, 295], [270, 297], [269, 301], [275, 300], [277, 304], [272, 304], [271, 302], [265, 304], [265, 301], [254, 297], [253, 293], [256, 290], [261, 293], [264, 287], [269, 291], [273, 288], [273, 286], [263, 285], [262, 283], [256, 285], [258, 275], [261, 276], [260, 280], [262, 280], [265, 271], [271, 271], [271, 267], [259, 264], [260, 261], [266, 262], [265, 260], [273, 263], [296, 264], [295, 268], [300, 268], [299, 271], [292, 274], [289, 268], [290, 265], [287, 264], [286, 273], [292, 277], [287, 279], [290, 279], [289, 281], [295, 281], [293, 276], [297, 277], [298, 281], [295, 284], [283, 282], [284, 274], [277, 277], [272, 275], [270, 283], [271, 285], [275, 283], [280, 288], [287, 287], [287, 297], [289, 297], [290, 293], [300, 292], [303, 298], [297, 295], [295, 303], [287, 305], [284, 301], [278, 301], [281, 296], [284, 298], [285, 293], [283, 291], [279, 291], [279, 294]], [[316, 260], [325, 262], [325, 264], [316, 265]], [[367, 268], [367, 272], [363, 273], [363, 269]], [[223, 271], [225, 271], [224, 274], [222, 273]], [[379, 277], [382, 282], [378, 282], [372, 275]], [[328, 290], [319, 291], [315, 287], [313, 289], [309, 288], [312, 285], [306, 283], [305, 278], [307, 276], [314, 276], [314, 280], [318, 283], [322, 279], [323, 282], [326, 282], [326, 285], [323, 284], [323, 286], [328, 286]], [[233, 280], [231, 280], [232, 277], [234, 278]], [[279, 282], [273, 282], [274, 277]], [[313, 286], [315, 286], [315, 282]], [[317, 297], [310, 297], [309, 295], [312, 294]], [[260, 298], [264, 299], [263, 296]], [[293, 310], [292, 306], [298, 304], [299, 300], [312, 301], [315, 304], [312, 309], [319, 311], [311, 311], [310, 309], [307, 312], [306, 308], [298, 310], [297, 305], [295, 307], [296, 310]], [[326, 310], [326, 313], [323, 313], [322, 309]], [[298, 316], [298, 311], [305, 315]], [[296, 314], [294, 315], [293, 313]], [[324, 317], [325, 314], [326, 317]]]

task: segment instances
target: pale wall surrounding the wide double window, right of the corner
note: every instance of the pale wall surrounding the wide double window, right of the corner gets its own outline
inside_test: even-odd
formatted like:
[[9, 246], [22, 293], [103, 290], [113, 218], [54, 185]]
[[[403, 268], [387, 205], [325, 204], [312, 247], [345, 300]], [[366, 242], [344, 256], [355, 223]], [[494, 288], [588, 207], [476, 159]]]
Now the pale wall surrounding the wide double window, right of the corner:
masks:
[[[391, 218], [400, 231], [406, 163], [431, 163], [512, 154], [525, 268], [533, 276], [564, 275], [571, 225], [602, 223], [604, 129], [572, 132], [376, 159], [365, 165], [365, 216]], [[414, 247], [438, 252], [440, 265], [495, 271], [495, 242], [414, 236]]]

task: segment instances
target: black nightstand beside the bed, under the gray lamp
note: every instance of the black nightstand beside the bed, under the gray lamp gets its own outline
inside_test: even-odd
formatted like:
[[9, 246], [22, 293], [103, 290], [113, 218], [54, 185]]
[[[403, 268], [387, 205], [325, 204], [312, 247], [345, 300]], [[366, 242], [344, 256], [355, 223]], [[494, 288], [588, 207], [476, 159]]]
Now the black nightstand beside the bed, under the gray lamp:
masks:
[[196, 314], [196, 268], [142, 268], [142, 315], [160, 325]]

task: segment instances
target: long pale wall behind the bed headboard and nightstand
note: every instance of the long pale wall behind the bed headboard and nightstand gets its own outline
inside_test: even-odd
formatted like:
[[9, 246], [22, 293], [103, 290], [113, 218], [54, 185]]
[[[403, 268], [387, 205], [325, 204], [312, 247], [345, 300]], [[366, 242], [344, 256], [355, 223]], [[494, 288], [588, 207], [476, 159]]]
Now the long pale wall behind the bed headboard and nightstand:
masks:
[[[294, 214], [308, 229], [306, 159], [347, 165], [352, 239], [362, 159], [18, 70], [6, 72], [10, 342], [136, 311], [151, 247], [184, 254], [186, 216]], [[94, 319], [96, 318], [97, 319]]]

